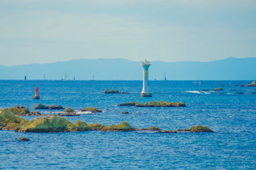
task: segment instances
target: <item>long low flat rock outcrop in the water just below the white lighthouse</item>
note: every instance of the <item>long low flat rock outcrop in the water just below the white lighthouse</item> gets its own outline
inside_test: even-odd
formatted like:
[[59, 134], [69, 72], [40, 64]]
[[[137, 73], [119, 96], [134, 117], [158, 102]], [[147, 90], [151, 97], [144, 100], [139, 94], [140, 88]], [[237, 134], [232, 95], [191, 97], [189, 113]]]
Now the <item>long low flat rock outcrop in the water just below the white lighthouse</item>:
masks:
[[137, 103], [137, 102], [127, 102], [118, 104], [118, 106], [136, 106], [136, 107], [186, 107], [186, 104], [183, 102], [165, 102], [165, 101], [150, 101], [145, 104]]

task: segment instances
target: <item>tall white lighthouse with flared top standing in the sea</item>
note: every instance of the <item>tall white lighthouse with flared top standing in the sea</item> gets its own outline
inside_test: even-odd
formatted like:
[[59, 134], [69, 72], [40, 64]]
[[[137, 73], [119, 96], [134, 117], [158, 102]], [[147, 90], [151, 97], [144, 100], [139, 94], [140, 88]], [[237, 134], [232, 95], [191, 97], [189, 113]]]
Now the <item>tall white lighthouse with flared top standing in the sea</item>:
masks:
[[150, 62], [145, 60], [145, 62], [141, 62], [140, 66], [143, 67], [143, 89], [140, 94], [141, 97], [152, 97], [152, 93], [148, 91], [148, 67], [150, 66]]

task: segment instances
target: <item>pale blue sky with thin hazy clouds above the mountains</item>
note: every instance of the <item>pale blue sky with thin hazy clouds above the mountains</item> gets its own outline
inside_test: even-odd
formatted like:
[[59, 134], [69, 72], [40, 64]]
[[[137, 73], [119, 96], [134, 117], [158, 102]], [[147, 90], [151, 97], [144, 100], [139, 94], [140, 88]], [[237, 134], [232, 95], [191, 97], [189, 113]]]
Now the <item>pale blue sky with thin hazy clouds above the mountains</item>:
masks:
[[0, 0], [0, 65], [256, 57], [255, 0]]

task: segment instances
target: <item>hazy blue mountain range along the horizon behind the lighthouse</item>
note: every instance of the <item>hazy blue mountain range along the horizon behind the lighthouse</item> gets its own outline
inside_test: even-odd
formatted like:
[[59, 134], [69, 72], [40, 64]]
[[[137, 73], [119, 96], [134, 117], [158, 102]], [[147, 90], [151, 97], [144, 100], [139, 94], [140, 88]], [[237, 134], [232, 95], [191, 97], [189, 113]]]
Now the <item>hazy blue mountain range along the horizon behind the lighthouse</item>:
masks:
[[[163, 62], [149, 68], [150, 80], [256, 80], [256, 57], [211, 62]], [[140, 62], [127, 59], [80, 59], [48, 64], [0, 66], [0, 80], [142, 80]]]

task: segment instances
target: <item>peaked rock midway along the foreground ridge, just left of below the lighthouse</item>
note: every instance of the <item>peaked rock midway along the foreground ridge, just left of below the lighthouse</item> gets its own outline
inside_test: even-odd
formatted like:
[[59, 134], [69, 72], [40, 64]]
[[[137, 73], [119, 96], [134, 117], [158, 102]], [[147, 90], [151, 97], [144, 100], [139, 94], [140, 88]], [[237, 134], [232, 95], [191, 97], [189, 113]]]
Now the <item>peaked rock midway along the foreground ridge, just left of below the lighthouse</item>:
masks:
[[126, 121], [122, 122], [118, 125], [109, 125], [108, 127], [102, 128], [100, 131], [121, 131], [121, 132], [128, 132], [128, 131], [138, 131], [137, 128], [131, 127]]

